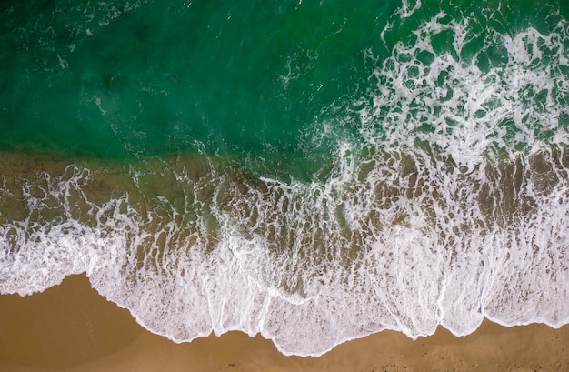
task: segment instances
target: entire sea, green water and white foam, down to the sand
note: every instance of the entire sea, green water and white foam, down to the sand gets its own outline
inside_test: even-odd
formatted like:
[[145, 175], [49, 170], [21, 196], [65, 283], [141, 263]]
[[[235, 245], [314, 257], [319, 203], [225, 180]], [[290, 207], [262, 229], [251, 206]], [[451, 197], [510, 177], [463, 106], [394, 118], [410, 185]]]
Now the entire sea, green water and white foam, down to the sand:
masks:
[[0, 292], [86, 272], [155, 333], [304, 356], [569, 321], [564, 2], [0, 17]]

